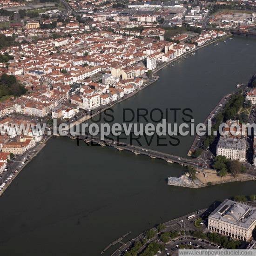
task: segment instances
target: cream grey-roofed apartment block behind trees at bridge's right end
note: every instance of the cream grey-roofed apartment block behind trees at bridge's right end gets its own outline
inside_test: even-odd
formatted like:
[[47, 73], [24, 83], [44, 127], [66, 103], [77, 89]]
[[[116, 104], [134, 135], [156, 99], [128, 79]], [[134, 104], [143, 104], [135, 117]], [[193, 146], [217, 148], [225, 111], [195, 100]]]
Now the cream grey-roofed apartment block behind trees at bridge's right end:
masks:
[[246, 140], [244, 138], [220, 137], [216, 155], [223, 155], [230, 160], [245, 162]]

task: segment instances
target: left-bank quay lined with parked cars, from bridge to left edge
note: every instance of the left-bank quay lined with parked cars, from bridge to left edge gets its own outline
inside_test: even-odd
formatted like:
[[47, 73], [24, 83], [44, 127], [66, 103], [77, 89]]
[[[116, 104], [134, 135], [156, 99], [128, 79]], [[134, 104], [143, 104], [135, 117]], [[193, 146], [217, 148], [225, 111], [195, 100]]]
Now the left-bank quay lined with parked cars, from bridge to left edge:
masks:
[[[22, 169], [25, 166], [27, 166], [32, 161], [32, 159], [34, 159], [34, 157], [38, 155], [38, 153], [46, 146], [47, 141], [51, 137], [52, 136], [47, 136], [43, 141], [39, 142], [34, 148], [30, 148], [25, 154], [17, 155], [14, 161], [7, 166], [8, 170], [2, 173], [3, 176], [0, 178], [1, 184], [6, 183], [6, 185], [0, 191], [0, 196], [5, 192], [5, 190], [13, 182], [13, 180], [19, 175]], [[17, 161], [18, 159], [20, 159], [20, 161]], [[22, 162], [24, 162], [26, 159], [27, 159], [27, 162], [22, 164]], [[6, 182], [7, 178], [11, 174], [13, 174], [13, 177], [8, 182]]]

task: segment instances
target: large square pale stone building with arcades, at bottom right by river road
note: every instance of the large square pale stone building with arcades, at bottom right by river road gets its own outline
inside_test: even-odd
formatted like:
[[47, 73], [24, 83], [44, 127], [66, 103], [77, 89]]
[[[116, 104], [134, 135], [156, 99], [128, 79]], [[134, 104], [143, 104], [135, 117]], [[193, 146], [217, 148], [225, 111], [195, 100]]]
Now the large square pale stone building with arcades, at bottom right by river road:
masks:
[[256, 227], [256, 207], [226, 199], [208, 219], [208, 229], [234, 239], [249, 241]]

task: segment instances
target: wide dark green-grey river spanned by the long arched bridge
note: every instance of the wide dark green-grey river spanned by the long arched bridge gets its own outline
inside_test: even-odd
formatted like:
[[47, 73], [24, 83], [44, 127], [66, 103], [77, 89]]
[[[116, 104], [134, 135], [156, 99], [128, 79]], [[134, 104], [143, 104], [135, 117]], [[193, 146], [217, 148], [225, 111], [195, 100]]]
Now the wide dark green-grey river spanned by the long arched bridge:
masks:
[[[163, 68], [155, 84], [115, 105], [115, 122], [123, 108], [135, 107], [191, 108], [195, 122], [204, 121], [224, 94], [255, 73], [255, 49], [255, 38], [235, 37]], [[186, 156], [193, 137], [180, 140], [176, 147], [149, 147]], [[256, 192], [256, 182], [167, 185], [168, 176], [183, 172], [147, 156], [52, 138], [0, 197], [0, 255], [96, 256], [128, 231], [132, 238], [215, 200]]]

